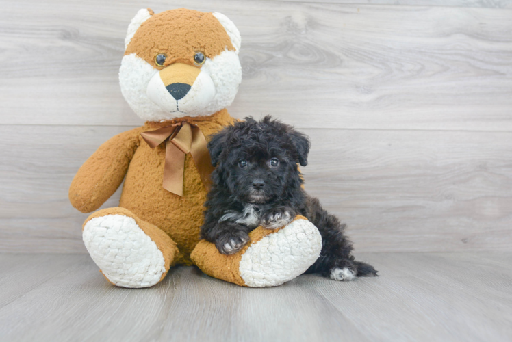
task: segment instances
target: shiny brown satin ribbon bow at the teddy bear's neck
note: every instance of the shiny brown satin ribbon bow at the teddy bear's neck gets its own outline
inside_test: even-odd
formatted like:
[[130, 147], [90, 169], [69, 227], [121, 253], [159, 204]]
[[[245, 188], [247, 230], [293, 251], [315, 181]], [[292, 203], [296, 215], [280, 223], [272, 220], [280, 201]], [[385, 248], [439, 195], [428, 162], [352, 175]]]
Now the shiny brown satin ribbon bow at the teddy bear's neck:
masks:
[[190, 153], [199, 171], [201, 181], [209, 189], [210, 174], [214, 170], [209, 157], [205, 135], [195, 124], [182, 121], [155, 131], [140, 133], [151, 148], [166, 142], [166, 162], [163, 186], [169, 192], [183, 196], [185, 155]]

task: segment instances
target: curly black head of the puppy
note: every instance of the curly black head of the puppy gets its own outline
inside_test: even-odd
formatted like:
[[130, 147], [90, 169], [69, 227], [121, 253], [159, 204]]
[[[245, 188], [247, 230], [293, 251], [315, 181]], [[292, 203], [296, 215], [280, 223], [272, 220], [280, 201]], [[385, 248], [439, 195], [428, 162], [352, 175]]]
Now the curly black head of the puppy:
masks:
[[242, 202], [267, 203], [303, 183], [297, 163], [307, 164], [309, 139], [270, 116], [245, 118], [214, 135], [208, 149], [215, 185]]

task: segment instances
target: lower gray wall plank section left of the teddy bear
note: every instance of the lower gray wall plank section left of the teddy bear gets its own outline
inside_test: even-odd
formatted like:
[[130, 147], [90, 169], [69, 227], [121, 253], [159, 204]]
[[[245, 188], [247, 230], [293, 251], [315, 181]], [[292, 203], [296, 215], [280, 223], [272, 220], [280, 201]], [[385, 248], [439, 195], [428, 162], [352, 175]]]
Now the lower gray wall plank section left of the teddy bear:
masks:
[[[102, 142], [130, 128], [0, 125], [0, 250], [86, 253], [88, 214], [69, 203], [69, 185]], [[116, 207], [119, 197], [120, 189], [103, 208]]]

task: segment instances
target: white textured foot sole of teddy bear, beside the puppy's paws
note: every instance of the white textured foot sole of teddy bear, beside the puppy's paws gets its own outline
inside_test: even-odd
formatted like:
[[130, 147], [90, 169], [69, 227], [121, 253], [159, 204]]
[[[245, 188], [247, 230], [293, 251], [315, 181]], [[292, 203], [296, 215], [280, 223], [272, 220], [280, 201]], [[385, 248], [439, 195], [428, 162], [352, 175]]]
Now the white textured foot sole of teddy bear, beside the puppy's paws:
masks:
[[322, 250], [322, 236], [308, 220], [296, 220], [249, 246], [240, 260], [248, 287], [277, 286], [303, 274]]

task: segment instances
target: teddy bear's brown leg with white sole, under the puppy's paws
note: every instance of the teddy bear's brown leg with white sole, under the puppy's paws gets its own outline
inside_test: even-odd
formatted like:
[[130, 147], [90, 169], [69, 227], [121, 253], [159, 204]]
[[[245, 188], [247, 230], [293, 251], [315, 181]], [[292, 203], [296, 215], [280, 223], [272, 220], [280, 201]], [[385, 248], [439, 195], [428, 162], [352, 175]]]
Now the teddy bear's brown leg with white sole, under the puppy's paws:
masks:
[[246, 287], [277, 286], [303, 274], [322, 250], [322, 236], [311, 222], [297, 216], [279, 229], [258, 227], [236, 254], [220, 254], [215, 244], [201, 240], [192, 261], [205, 274]]

